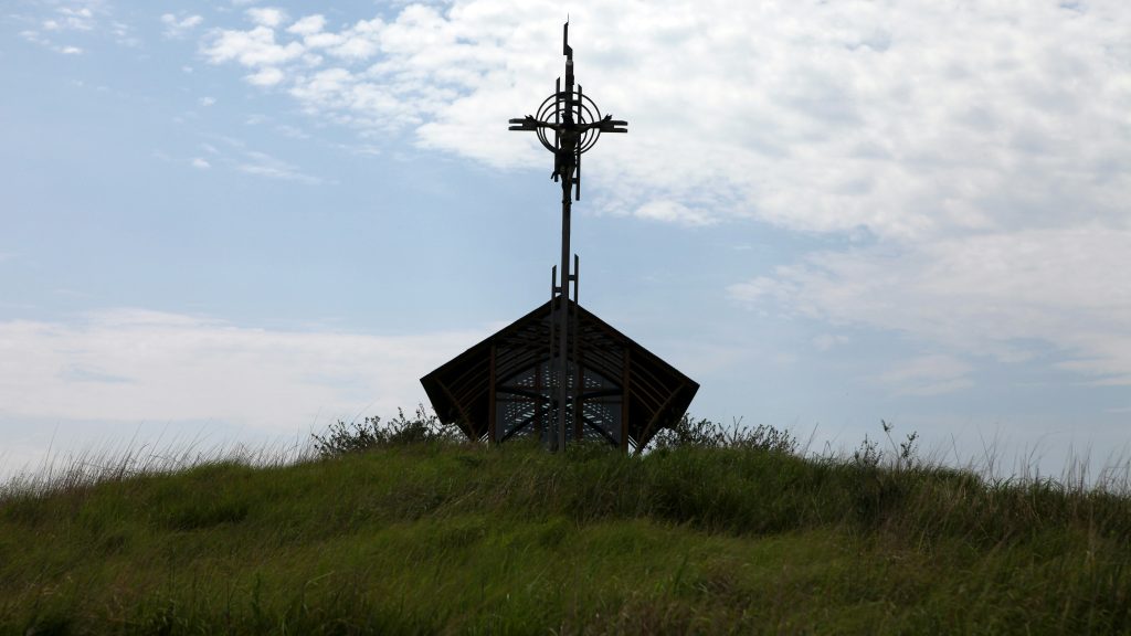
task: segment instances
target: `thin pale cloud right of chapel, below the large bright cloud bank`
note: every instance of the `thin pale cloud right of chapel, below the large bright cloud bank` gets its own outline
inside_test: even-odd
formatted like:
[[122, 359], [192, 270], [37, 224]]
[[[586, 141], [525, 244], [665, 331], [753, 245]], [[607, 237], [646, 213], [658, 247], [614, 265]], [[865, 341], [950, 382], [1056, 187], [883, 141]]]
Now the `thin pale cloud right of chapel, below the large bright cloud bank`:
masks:
[[899, 332], [966, 355], [1131, 385], [1131, 231], [1025, 230], [821, 252], [732, 285], [760, 311]]

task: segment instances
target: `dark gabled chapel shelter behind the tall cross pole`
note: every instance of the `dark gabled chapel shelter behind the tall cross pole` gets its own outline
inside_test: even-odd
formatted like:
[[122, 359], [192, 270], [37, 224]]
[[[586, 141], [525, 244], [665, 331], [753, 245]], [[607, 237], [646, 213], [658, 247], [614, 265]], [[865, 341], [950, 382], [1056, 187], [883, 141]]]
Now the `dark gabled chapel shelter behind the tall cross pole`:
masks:
[[[551, 309], [546, 302], [421, 379], [442, 421], [492, 442], [554, 433]], [[694, 380], [572, 301], [570, 315], [568, 381], [577, 416], [567, 439], [640, 449], [683, 416], [699, 389]]]

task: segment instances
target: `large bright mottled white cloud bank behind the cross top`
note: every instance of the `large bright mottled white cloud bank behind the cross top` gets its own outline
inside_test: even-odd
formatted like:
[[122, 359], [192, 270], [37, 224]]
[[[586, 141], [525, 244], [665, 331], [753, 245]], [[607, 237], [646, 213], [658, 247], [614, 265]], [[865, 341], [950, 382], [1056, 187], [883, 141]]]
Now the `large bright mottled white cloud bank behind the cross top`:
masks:
[[[556, 7], [457, 0], [338, 31], [305, 16], [285, 32], [264, 9], [205, 51], [276, 69], [270, 85], [292, 86], [312, 115], [413, 129], [424, 147], [492, 165], [542, 165], [533, 139], [500, 122], [533, 111], [561, 72], [559, 26], [544, 18]], [[1131, 195], [1129, 9], [615, 9], [571, 8], [579, 80], [630, 121], [628, 138], [590, 160], [605, 212], [901, 239], [1110, 218]]]

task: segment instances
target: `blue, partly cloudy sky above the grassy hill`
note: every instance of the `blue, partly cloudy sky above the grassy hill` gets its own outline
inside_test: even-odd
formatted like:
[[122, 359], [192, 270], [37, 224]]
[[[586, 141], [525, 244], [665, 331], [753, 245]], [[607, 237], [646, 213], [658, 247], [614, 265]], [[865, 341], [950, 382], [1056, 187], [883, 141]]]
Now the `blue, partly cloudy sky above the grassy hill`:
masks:
[[549, 298], [567, 12], [580, 301], [692, 415], [1128, 459], [1121, 0], [7, 0], [0, 474], [426, 403]]

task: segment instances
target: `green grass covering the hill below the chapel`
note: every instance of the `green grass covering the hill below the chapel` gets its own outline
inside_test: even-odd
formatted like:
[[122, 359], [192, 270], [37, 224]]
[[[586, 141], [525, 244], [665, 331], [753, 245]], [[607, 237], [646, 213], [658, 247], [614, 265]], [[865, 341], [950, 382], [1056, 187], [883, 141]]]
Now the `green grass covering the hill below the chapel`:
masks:
[[1131, 499], [440, 442], [0, 493], [0, 634], [1131, 633]]

